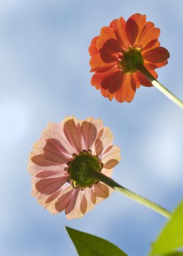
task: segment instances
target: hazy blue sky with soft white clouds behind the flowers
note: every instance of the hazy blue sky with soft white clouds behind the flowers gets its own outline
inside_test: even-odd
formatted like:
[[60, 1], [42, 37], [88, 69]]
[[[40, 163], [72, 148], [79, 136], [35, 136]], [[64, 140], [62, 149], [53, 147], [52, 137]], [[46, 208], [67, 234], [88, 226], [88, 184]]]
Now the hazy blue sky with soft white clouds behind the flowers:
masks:
[[117, 192], [83, 218], [51, 215], [31, 196], [28, 156], [49, 122], [101, 118], [120, 146], [113, 179], [169, 210], [183, 197], [183, 112], [141, 86], [120, 104], [90, 85], [88, 46], [102, 26], [132, 13], [161, 29], [170, 51], [159, 81], [183, 99], [182, 1], [0, 0], [1, 256], [76, 256], [65, 226], [147, 255], [166, 219]]

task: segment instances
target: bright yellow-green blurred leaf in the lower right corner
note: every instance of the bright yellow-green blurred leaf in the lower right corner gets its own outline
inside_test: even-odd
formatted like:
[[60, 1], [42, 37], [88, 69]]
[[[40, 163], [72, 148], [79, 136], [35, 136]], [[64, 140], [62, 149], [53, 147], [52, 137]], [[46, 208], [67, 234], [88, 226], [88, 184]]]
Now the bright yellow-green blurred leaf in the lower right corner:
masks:
[[[183, 201], [173, 212], [157, 240], [152, 244], [150, 255], [164, 255], [183, 246]], [[174, 252], [176, 253], [176, 252]], [[178, 252], [177, 252], [178, 253]], [[182, 252], [170, 255], [183, 255]]]

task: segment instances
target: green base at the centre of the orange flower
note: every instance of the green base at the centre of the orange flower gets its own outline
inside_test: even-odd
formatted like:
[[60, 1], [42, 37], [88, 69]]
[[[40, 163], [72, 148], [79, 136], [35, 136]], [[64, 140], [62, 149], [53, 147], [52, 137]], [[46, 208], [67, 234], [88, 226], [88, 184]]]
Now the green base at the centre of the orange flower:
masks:
[[122, 60], [118, 62], [118, 67], [123, 73], [134, 73], [138, 70], [138, 64], [143, 64], [143, 57], [141, 56], [141, 49], [129, 48], [123, 52]]

